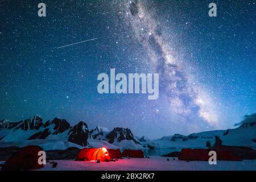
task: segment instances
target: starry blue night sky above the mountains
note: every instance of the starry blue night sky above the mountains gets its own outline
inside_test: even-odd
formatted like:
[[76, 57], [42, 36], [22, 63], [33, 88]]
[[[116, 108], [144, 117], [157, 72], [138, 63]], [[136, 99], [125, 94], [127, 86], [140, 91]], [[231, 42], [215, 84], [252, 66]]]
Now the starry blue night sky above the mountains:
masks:
[[[135, 15], [131, 3], [0, 1], [0, 119], [39, 114], [153, 139], [255, 113], [256, 1], [139, 1]], [[97, 76], [111, 68], [159, 73], [158, 100], [99, 94]]]

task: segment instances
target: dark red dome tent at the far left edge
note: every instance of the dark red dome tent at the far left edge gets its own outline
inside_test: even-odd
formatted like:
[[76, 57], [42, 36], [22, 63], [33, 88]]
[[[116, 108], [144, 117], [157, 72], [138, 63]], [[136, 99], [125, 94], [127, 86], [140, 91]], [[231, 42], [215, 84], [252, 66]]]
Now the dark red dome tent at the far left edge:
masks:
[[27, 146], [20, 148], [15, 152], [5, 164], [3, 164], [3, 171], [23, 171], [39, 169], [43, 167], [43, 164], [38, 163], [39, 151], [43, 149], [39, 146]]

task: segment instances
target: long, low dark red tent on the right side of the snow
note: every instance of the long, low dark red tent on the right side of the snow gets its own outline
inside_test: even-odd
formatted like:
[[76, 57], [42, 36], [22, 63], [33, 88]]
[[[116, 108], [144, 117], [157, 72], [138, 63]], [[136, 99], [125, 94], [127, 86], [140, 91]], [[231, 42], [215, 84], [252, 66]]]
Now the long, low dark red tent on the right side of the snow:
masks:
[[208, 161], [210, 151], [216, 151], [217, 160], [234, 160], [241, 161], [242, 159], [230, 150], [216, 149], [191, 149], [183, 148], [179, 155], [179, 160], [204, 160]]

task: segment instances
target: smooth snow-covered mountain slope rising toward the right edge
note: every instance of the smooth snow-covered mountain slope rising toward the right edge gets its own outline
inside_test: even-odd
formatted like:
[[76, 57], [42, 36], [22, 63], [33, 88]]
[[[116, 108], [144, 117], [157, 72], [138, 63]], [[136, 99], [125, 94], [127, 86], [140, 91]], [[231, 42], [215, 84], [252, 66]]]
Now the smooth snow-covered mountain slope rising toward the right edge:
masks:
[[217, 136], [226, 146], [256, 148], [256, 122], [244, 123], [236, 129], [205, 131], [185, 136], [175, 134], [142, 142], [148, 148], [205, 148], [213, 146]]

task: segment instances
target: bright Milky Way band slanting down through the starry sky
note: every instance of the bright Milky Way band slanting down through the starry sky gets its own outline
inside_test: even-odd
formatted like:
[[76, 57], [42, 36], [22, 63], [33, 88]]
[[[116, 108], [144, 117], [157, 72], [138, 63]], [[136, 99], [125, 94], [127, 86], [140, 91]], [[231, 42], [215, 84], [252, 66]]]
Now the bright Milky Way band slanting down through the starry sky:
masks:
[[126, 3], [125, 15], [134, 36], [150, 55], [155, 71], [160, 73], [160, 85], [168, 96], [170, 110], [184, 117], [196, 111], [209, 125], [217, 126], [216, 106], [207, 92], [185, 73], [183, 64], [186, 62], [181, 63], [172, 55], [171, 47], [162, 38], [162, 25], [156, 23], [144, 4], [138, 1]]

